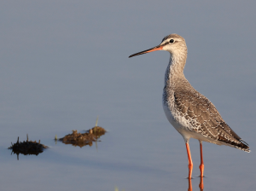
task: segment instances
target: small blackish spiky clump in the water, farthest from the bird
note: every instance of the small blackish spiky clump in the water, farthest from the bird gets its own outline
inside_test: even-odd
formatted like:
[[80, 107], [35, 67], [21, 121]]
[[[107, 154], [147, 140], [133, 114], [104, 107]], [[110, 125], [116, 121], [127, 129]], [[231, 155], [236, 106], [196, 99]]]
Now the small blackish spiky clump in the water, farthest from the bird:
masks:
[[28, 135], [26, 134], [26, 142], [19, 142], [19, 136], [17, 142], [13, 144], [9, 149], [12, 149], [12, 153], [17, 154], [17, 159], [19, 159], [19, 154], [22, 153], [24, 155], [27, 154], [35, 154], [38, 155], [39, 153], [44, 152], [44, 148], [48, 148], [47, 146], [40, 143], [40, 140], [37, 141], [28, 141]]

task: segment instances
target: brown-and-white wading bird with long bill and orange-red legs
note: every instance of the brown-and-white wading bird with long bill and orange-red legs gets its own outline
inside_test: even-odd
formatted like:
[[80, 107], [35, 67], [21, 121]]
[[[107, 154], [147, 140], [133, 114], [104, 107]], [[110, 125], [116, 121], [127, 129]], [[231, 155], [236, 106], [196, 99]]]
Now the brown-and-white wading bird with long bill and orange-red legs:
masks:
[[196, 91], [183, 74], [187, 60], [187, 45], [185, 39], [177, 34], [166, 36], [160, 45], [137, 54], [143, 55], [156, 50], [166, 50], [170, 53], [170, 61], [166, 69], [165, 88], [162, 103], [166, 118], [183, 136], [189, 159], [189, 178], [192, 176], [193, 163], [189, 150], [189, 139], [200, 142], [201, 177], [203, 177], [204, 162], [202, 142], [212, 142], [227, 145], [250, 152], [248, 144], [237, 136], [234, 130], [224, 122], [216, 107], [207, 97]]

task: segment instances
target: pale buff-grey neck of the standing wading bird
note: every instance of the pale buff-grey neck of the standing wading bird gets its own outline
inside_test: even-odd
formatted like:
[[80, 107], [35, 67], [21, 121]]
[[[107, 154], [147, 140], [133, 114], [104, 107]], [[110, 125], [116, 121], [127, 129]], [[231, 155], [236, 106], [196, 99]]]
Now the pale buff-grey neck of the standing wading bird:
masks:
[[183, 69], [187, 60], [187, 54], [172, 55], [170, 54], [170, 61], [166, 68], [165, 84], [166, 86], [173, 86], [179, 80], [184, 80]]

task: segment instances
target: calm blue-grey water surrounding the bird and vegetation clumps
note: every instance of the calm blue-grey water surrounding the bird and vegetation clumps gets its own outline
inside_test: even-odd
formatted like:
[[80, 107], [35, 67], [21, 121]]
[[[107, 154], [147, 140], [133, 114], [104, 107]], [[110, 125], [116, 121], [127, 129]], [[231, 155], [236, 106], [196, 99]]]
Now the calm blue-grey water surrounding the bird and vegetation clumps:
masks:
[[[182, 136], [161, 106], [169, 54], [128, 56], [177, 33], [185, 76], [249, 143], [251, 153], [203, 143], [204, 190], [256, 186], [254, 1], [2, 1], [0, 3], [1, 190], [188, 190]], [[108, 130], [84, 148], [55, 144], [96, 123]], [[11, 142], [41, 140], [38, 156]], [[190, 140], [193, 190], [199, 143]]]

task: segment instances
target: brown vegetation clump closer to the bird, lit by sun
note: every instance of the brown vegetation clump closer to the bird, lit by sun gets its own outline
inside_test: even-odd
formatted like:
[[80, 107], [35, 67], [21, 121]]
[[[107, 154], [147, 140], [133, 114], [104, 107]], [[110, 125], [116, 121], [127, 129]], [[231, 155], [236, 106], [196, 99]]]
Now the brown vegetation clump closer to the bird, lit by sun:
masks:
[[72, 134], [62, 137], [59, 141], [82, 148], [86, 145], [92, 146], [92, 142], [97, 142], [97, 139], [105, 133], [106, 130], [102, 127], [95, 126], [94, 128], [87, 130], [85, 133], [78, 133], [78, 130], [73, 130]]

